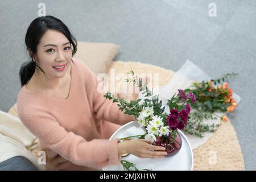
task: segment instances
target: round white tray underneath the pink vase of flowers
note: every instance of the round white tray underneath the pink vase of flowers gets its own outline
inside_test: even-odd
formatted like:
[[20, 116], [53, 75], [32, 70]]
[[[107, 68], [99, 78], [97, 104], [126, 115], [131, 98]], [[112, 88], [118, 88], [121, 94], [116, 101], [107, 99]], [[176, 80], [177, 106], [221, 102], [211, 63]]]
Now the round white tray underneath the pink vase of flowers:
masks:
[[[182, 146], [180, 151], [174, 156], [167, 156], [165, 158], [138, 158], [134, 155], [128, 155], [125, 157], [121, 157], [121, 160], [128, 160], [131, 163], [136, 164], [136, 167], [139, 170], [142, 169], [152, 169], [152, 171], [191, 171], [193, 170], [193, 151], [191, 145], [188, 142], [187, 137], [178, 130], [181, 139]], [[146, 129], [139, 127], [138, 122], [131, 121], [126, 125], [120, 127], [115, 133], [109, 138], [124, 138], [133, 135], [145, 134]], [[103, 168], [104, 171], [122, 171], [122, 164], [118, 164], [116, 166], [108, 166]]]

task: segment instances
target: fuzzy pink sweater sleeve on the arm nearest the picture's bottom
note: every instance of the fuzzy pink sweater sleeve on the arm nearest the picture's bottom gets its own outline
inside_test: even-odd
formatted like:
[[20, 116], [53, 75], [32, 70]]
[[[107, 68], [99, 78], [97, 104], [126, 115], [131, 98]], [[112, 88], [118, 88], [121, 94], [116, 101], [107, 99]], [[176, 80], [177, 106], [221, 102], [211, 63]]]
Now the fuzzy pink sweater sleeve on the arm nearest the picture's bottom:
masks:
[[33, 110], [33, 114], [19, 114], [19, 117], [47, 148], [76, 165], [101, 169], [120, 162], [118, 139], [93, 139], [88, 142], [65, 130], [47, 111]]

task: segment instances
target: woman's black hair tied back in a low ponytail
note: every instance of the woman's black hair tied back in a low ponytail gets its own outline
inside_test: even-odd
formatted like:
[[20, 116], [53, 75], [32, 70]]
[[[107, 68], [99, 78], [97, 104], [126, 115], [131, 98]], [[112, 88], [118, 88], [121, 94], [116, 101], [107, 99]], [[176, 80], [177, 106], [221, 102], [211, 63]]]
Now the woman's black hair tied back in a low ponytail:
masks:
[[[23, 63], [19, 70], [20, 82], [22, 86], [27, 84], [27, 82], [33, 76], [35, 69], [39, 69], [44, 73], [44, 71], [36, 63], [35, 54], [36, 54], [36, 47], [38, 46], [40, 39], [48, 30], [56, 30], [63, 33], [65, 37], [69, 40], [69, 43], [72, 46], [72, 55], [75, 55], [76, 53], [77, 41], [69, 31], [68, 27], [63, 22], [61, 22], [60, 19], [57, 19], [49, 15], [40, 16], [34, 19], [30, 23], [30, 26], [28, 26], [26, 37], [25, 37], [27, 51], [29, 52], [31, 60], [26, 63]], [[72, 59], [71, 61], [73, 63]]]

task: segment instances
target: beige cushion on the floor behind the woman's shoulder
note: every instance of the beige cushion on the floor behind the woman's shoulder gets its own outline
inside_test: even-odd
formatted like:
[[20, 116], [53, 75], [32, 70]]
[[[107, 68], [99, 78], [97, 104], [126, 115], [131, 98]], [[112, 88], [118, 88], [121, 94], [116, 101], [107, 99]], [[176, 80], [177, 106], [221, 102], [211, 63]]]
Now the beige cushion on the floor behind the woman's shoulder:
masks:
[[98, 75], [108, 71], [120, 47], [112, 43], [77, 42], [74, 57], [84, 61], [91, 71]]

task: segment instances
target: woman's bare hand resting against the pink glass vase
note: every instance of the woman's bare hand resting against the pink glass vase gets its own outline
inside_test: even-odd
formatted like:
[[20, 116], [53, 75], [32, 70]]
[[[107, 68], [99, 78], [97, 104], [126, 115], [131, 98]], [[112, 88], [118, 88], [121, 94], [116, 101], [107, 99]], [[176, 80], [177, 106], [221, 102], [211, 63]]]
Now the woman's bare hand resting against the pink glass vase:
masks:
[[118, 143], [118, 154], [133, 154], [139, 158], [164, 158], [166, 148], [153, 146], [149, 140], [133, 139]]

